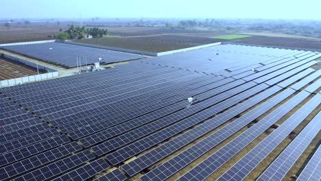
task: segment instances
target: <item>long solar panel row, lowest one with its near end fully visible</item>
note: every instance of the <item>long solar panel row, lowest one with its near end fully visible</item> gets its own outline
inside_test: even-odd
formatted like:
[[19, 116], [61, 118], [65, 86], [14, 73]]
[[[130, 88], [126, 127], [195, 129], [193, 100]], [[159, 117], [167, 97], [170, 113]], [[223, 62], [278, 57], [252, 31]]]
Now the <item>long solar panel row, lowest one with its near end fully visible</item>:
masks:
[[[168, 156], [169, 154], [180, 149], [181, 147], [191, 143], [191, 141], [194, 141], [196, 138], [199, 138], [207, 132], [217, 128], [218, 125], [221, 125], [229, 119], [232, 119], [233, 117], [237, 116], [237, 114], [240, 114], [241, 112], [254, 106], [263, 99], [270, 97], [278, 90], [281, 90], [281, 88], [278, 88], [276, 86], [269, 88], [268, 90], [265, 90], [263, 93], [260, 93], [259, 95], [252, 97], [251, 99], [244, 101], [241, 104], [238, 104], [230, 110], [226, 110], [226, 112], [217, 115], [217, 117], [214, 117], [213, 119], [210, 119], [205, 123], [202, 123], [198, 127], [190, 130], [189, 132], [186, 132], [172, 139], [171, 141], [168, 141], [167, 143], [160, 145], [156, 149], [153, 149], [152, 151], [143, 154], [143, 156], [140, 156], [139, 158], [136, 158], [135, 160], [132, 160], [132, 162], [128, 162], [128, 164], [125, 164], [121, 167], [124, 171], [126, 171], [126, 173], [128, 173], [128, 175], [134, 176], [137, 173], [139, 173], [139, 171], [142, 171], [143, 169], [150, 167], [150, 165], [154, 164], [156, 161], [165, 158], [165, 156]], [[250, 95], [254, 94], [252, 90], [248, 92], [250, 92]], [[243, 95], [243, 98], [245, 97], [246, 95]]]

